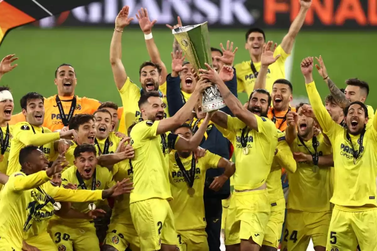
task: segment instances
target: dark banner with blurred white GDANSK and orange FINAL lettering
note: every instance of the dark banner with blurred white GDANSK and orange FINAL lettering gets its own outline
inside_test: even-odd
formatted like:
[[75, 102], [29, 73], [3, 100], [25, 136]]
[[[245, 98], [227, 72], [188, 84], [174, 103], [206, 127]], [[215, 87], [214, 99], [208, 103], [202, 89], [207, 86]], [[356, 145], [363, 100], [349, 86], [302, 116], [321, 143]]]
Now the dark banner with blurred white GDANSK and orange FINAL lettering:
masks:
[[[129, 5], [131, 16], [147, 7], [158, 25], [176, 24], [179, 15], [184, 25], [208, 21], [210, 27], [287, 29], [300, 9], [299, 0], [104, 0], [77, 7], [34, 25], [113, 26], [118, 11]], [[133, 21], [138, 24], [137, 20]], [[313, 0], [303, 29], [371, 29], [377, 26], [377, 0]]]

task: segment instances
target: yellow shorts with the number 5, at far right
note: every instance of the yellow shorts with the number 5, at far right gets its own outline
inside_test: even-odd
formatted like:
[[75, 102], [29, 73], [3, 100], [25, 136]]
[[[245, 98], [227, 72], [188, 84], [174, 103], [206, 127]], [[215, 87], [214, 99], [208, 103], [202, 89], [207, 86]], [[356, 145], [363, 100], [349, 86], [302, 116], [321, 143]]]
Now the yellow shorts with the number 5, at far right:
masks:
[[377, 250], [377, 209], [343, 211], [335, 206], [327, 235], [326, 250]]

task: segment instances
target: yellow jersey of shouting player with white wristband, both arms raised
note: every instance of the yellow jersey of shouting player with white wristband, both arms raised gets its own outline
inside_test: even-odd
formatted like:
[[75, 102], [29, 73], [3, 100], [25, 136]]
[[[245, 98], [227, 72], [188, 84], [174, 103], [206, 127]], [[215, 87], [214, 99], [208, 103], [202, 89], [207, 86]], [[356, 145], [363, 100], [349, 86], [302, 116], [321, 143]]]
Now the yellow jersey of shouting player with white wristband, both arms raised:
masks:
[[[130, 125], [132, 125], [133, 122], [139, 122], [139, 118], [141, 117], [138, 106], [140, 99], [140, 88], [134, 84], [130, 78], [127, 78], [123, 87], [119, 90], [119, 93], [122, 99], [123, 116], [126, 127], [123, 129], [123, 127], [121, 127], [123, 125], [120, 125], [118, 131], [127, 135], [127, 129], [130, 127]], [[162, 102], [164, 102], [166, 105], [166, 108], [164, 109], [164, 117], [166, 118], [169, 114], [166, 97], [162, 98]]]

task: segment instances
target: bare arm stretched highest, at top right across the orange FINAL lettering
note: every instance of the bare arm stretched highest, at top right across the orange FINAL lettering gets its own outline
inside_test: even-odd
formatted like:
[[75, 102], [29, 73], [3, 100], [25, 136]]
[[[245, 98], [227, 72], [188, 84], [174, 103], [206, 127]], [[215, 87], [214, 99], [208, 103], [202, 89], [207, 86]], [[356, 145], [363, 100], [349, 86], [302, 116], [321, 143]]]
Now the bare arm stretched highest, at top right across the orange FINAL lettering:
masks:
[[297, 34], [299, 33], [302, 25], [304, 24], [306, 14], [308, 9], [311, 6], [311, 0], [300, 0], [300, 11], [297, 17], [293, 20], [291, 27], [288, 30], [287, 35], [284, 36], [282, 43], [280, 44], [285, 53], [291, 54], [294, 40], [296, 39]]

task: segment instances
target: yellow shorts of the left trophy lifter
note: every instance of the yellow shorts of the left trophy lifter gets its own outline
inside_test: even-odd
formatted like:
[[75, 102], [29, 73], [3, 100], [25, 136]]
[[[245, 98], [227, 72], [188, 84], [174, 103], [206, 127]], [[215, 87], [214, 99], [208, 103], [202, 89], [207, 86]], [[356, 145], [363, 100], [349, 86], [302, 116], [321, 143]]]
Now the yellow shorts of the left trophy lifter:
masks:
[[141, 250], [159, 250], [161, 243], [177, 245], [174, 215], [166, 199], [133, 202], [130, 211]]

